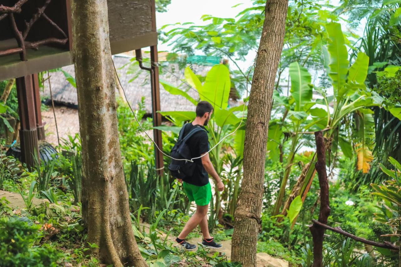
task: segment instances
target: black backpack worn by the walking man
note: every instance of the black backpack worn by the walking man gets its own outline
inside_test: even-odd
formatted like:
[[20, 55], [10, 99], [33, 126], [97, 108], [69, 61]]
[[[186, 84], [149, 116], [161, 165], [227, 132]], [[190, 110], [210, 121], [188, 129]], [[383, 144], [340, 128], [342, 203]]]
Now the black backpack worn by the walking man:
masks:
[[[178, 140], [170, 152], [170, 156], [172, 158], [190, 160], [192, 158], [191, 151], [190, 151], [188, 145], [186, 144], [186, 141], [188, 141], [189, 138], [191, 136], [193, 136], [194, 134], [196, 134], [197, 132], [206, 131], [202, 127], [197, 126], [197, 127], [194, 127], [193, 129], [191, 129], [189, 131], [189, 133], [186, 134], [185, 137], [183, 137], [184, 129], [185, 129], [186, 125], [188, 125], [188, 123], [186, 123], [182, 127], [182, 129], [180, 131], [180, 135], [178, 136]], [[168, 165], [168, 169], [170, 170], [171, 175], [173, 177], [185, 180], [185, 178], [192, 176], [192, 174], [194, 173], [194, 170], [196, 168], [196, 163], [189, 162], [186, 160], [171, 159], [170, 165]]]

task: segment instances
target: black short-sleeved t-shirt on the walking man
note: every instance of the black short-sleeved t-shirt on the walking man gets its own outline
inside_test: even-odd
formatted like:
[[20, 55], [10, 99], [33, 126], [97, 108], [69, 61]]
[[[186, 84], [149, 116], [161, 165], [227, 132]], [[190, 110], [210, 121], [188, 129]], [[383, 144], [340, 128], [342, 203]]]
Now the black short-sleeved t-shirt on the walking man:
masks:
[[[205, 129], [205, 127], [203, 127], [202, 125], [192, 125], [192, 123], [187, 123], [183, 129], [184, 131], [183, 137], [185, 137], [194, 127], [202, 127], [203, 129]], [[190, 149], [191, 158], [196, 158], [201, 156], [202, 154], [205, 154], [206, 152], [209, 151], [209, 140], [207, 132], [198, 131], [189, 138], [186, 144]], [[194, 164], [196, 164], [194, 174], [192, 175], [192, 177], [185, 178], [184, 181], [187, 182], [188, 184], [193, 184], [196, 186], [204, 186], [208, 184], [209, 176], [207, 174], [207, 171], [205, 170], [205, 167], [203, 167], [202, 159], [198, 158], [194, 160]]]

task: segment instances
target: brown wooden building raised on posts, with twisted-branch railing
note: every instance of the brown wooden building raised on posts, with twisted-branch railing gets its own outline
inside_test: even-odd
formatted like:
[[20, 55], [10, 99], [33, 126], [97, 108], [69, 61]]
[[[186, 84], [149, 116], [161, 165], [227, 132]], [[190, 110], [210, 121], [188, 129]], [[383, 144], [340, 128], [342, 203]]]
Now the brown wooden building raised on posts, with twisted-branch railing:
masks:
[[[157, 58], [156, 12], [154, 0], [108, 0], [111, 53], [150, 47], [151, 60]], [[70, 0], [0, 0], [0, 81], [16, 78], [20, 116], [22, 160], [34, 165], [32, 154], [38, 140], [45, 139], [37, 73], [71, 65]], [[158, 65], [149, 71], [152, 84], [152, 116], [160, 125]], [[161, 132], [154, 139], [162, 147]], [[163, 157], [155, 150], [156, 168], [163, 167]], [[160, 171], [161, 172], [161, 171]]]

